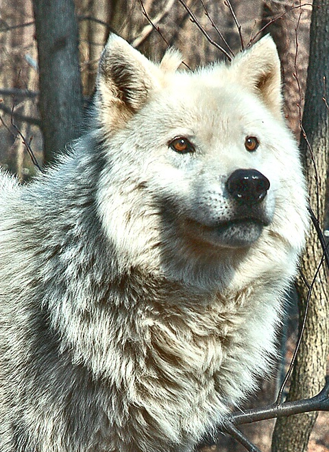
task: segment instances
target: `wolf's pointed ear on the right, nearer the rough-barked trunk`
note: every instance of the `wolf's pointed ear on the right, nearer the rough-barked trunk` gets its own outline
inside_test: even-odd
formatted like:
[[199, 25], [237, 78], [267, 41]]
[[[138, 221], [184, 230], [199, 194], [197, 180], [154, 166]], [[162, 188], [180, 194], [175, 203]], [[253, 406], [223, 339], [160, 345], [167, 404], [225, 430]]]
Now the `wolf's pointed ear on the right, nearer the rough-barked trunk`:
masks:
[[255, 93], [276, 117], [282, 119], [280, 59], [269, 36], [236, 56], [232, 67], [239, 83]]

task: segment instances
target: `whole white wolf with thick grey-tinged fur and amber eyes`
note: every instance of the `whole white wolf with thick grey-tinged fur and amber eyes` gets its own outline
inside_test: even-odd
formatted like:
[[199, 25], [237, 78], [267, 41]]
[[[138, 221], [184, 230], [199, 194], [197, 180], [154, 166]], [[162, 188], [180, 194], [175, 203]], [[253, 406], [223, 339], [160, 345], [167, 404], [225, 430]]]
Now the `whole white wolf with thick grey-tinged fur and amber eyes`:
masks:
[[306, 230], [280, 63], [156, 65], [113, 34], [90, 130], [1, 175], [1, 452], [185, 452], [269, 367]]

